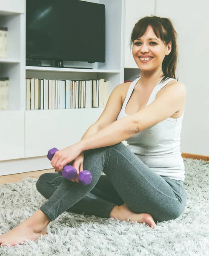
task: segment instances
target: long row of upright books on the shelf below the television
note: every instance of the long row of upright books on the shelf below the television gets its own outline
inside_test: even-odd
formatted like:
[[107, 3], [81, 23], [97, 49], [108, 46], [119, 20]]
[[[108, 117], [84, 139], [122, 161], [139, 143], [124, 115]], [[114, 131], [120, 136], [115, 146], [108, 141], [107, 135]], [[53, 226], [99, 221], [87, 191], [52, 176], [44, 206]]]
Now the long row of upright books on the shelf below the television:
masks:
[[104, 108], [109, 81], [26, 79], [26, 110]]

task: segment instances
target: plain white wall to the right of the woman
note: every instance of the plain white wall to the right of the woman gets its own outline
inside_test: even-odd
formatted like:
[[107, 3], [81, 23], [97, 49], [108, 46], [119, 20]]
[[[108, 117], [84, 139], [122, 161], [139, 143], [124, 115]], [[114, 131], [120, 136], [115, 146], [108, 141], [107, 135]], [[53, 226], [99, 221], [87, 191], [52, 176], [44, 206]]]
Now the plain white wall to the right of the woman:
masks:
[[155, 15], [172, 19], [178, 33], [177, 78], [187, 97], [181, 152], [209, 156], [209, 15], [207, 0], [156, 0]]

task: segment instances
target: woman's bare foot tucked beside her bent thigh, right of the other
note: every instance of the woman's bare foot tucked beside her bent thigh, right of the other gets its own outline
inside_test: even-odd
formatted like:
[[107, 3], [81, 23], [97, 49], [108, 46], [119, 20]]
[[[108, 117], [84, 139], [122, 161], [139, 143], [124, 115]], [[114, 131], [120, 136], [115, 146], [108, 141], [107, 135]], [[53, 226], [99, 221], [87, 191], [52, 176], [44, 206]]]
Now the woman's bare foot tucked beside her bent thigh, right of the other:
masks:
[[110, 217], [117, 218], [121, 221], [127, 221], [129, 219], [130, 221], [137, 221], [139, 223], [145, 222], [152, 228], [156, 227], [155, 221], [149, 213], [132, 212], [126, 204], [113, 207]]

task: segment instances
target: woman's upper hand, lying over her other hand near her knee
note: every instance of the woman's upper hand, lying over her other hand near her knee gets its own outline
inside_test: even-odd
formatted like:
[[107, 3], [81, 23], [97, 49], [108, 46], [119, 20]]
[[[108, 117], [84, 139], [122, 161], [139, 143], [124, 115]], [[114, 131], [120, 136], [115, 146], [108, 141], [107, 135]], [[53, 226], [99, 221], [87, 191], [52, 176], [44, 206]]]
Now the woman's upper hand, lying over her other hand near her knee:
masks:
[[80, 155], [82, 149], [79, 143], [75, 143], [67, 148], [63, 148], [55, 152], [52, 157], [51, 165], [57, 171], [62, 171], [66, 164], [71, 163], [76, 157]]

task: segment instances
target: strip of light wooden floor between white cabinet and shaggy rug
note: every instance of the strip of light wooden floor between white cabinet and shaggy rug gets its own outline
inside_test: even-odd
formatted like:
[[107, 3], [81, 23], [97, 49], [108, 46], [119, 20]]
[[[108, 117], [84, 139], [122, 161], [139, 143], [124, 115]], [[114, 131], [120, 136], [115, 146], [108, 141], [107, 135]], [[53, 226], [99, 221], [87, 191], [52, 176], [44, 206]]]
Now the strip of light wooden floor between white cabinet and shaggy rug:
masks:
[[54, 172], [54, 169], [35, 171], [35, 172], [23, 172], [23, 173], [0, 176], [0, 184], [19, 182], [20, 180], [26, 177], [38, 178], [40, 175], [46, 172]]

